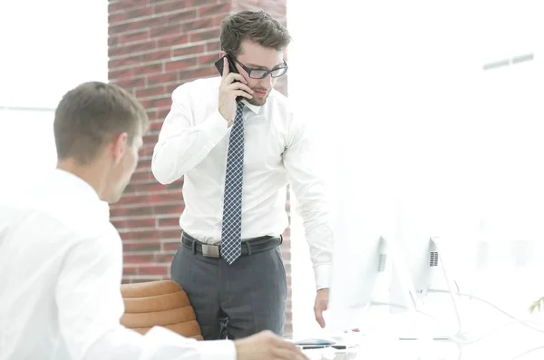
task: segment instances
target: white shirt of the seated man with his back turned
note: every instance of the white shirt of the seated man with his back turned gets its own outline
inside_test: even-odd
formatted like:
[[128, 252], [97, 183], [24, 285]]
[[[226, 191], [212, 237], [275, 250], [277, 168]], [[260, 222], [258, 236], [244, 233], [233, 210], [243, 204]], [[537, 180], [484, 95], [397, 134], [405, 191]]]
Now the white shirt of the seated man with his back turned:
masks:
[[63, 170], [0, 205], [0, 359], [234, 360], [231, 341], [120, 325], [121, 238], [108, 205]]

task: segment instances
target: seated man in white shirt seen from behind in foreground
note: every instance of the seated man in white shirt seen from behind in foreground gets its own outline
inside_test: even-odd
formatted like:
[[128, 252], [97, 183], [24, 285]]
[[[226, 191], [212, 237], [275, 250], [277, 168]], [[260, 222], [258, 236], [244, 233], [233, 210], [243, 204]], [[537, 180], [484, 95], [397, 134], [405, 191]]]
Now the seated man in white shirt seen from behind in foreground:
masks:
[[121, 238], [107, 203], [131, 179], [147, 123], [113, 84], [83, 83], [63, 96], [57, 169], [0, 206], [0, 360], [304, 359], [271, 332], [197, 342], [121, 326]]

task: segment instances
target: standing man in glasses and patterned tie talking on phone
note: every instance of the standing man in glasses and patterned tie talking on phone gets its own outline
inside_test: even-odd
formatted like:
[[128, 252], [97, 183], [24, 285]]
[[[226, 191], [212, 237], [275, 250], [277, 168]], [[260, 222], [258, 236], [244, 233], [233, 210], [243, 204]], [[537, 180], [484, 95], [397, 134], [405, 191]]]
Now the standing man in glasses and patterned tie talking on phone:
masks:
[[324, 187], [312, 165], [305, 122], [273, 89], [287, 72], [283, 55], [290, 36], [267, 13], [242, 11], [223, 21], [220, 42], [222, 76], [173, 92], [151, 162], [160, 183], [184, 179], [183, 232], [171, 278], [188, 292], [205, 338], [263, 329], [281, 335], [287, 279], [279, 245], [288, 225], [290, 182], [304, 219], [316, 277], [315, 316], [323, 327], [333, 243]]

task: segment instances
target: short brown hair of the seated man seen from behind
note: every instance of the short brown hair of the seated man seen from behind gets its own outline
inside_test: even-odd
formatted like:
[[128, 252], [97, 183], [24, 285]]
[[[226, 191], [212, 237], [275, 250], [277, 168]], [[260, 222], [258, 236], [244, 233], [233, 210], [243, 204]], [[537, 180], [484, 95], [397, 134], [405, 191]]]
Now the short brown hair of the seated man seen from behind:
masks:
[[148, 122], [145, 109], [130, 92], [112, 83], [82, 83], [64, 94], [54, 113], [58, 159], [89, 163], [115, 136], [126, 132], [131, 142]]

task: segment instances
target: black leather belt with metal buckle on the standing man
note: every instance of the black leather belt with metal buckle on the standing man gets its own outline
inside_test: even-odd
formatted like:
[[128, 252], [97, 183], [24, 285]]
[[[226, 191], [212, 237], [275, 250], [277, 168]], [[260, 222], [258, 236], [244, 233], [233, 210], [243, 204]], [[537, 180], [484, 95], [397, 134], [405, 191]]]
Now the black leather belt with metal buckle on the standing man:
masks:
[[[242, 256], [248, 256], [251, 254], [257, 254], [259, 252], [267, 251], [272, 248], [276, 248], [283, 242], [283, 238], [279, 237], [260, 237], [260, 238], [248, 238], [242, 240]], [[195, 253], [202, 254], [207, 258], [220, 258], [221, 246], [220, 245], [208, 245], [200, 242], [196, 238], [191, 237], [186, 232], [181, 234], [181, 244], [185, 248], [193, 250]]]

